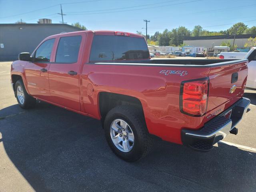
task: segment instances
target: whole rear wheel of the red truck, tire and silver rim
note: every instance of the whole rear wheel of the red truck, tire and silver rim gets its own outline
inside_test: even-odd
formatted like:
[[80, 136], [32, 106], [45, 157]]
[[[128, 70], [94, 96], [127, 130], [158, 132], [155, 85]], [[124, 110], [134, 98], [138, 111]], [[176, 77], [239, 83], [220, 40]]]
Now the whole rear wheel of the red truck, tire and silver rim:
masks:
[[132, 106], [110, 110], [105, 118], [104, 132], [114, 154], [128, 162], [143, 158], [152, 146], [143, 115]]

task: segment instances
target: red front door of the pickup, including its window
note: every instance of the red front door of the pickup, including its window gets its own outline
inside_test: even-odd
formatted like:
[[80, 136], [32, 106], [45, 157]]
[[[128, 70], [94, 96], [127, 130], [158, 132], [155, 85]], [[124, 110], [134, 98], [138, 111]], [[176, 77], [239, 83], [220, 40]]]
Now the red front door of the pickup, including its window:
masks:
[[30, 95], [44, 100], [50, 96], [48, 70], [55, 38], [44, 41], [33, 54], [33, 62], [25, 66], [27, 88]]

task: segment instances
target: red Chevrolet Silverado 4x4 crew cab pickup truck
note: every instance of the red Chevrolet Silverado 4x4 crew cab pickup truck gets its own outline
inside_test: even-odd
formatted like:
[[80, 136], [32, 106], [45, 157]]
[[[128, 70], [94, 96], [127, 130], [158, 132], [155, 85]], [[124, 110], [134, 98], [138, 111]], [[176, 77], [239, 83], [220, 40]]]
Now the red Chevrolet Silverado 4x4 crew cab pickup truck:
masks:
[[150, 59], [145, 39], [82, 31], [44, 39], [20, 53], [11, 82], [21, 108], [36, 99], [102, 121], [112, 151], [144, 157], [154, 137], [202, 152], [249, 110], [243, 98], [248, 60]]

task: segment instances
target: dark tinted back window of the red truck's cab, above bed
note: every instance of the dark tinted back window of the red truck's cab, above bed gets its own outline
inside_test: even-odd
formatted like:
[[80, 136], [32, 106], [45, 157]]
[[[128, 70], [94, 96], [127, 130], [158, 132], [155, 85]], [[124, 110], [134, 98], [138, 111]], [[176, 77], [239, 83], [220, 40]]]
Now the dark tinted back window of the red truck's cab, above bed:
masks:
[[92, 41], [90, 62], [149, 59], [144, 38], [112, 35], [95, 35]]

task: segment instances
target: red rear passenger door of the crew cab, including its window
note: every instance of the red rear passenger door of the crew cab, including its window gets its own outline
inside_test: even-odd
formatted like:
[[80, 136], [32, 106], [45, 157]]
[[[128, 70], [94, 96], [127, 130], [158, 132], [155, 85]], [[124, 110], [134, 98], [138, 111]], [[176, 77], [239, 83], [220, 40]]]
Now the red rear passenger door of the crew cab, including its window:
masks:
[[50, 101], [80, 111], [79, 70], [85, 33], [58, 38], [54, 62], [49, 69]]

